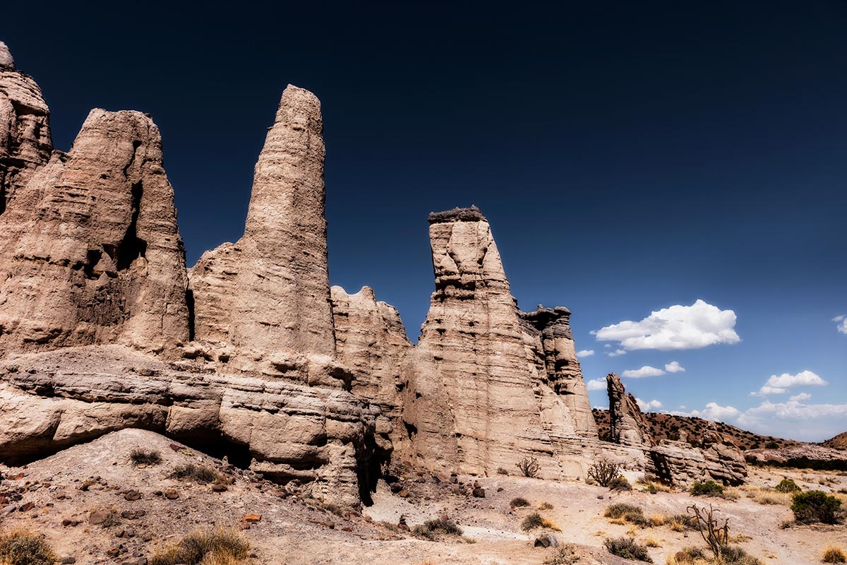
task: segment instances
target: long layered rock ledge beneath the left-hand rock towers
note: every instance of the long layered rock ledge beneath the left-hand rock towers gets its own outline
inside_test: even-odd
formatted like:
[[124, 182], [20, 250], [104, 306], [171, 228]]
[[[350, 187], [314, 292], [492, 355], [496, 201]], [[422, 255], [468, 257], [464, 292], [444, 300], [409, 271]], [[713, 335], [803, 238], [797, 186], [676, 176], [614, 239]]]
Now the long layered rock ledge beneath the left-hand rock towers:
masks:
[[359, 503], [377, 413], [366, 402], [329, 387], [192, 368], [121, 346], [9, 357], [0, 363], [3, 463], [117, 429], [150, 429], [246, 457], [253, 470], [317, 498]]

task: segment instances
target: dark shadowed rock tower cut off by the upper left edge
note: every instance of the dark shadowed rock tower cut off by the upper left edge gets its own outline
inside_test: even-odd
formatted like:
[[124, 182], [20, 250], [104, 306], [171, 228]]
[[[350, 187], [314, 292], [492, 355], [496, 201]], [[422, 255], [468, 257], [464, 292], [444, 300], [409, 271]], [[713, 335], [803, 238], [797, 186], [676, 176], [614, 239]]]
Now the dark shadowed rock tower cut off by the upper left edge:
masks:
[[50, 110], [32, 77], [14, 67], [0, 42], [0, 214], [53, 151]]

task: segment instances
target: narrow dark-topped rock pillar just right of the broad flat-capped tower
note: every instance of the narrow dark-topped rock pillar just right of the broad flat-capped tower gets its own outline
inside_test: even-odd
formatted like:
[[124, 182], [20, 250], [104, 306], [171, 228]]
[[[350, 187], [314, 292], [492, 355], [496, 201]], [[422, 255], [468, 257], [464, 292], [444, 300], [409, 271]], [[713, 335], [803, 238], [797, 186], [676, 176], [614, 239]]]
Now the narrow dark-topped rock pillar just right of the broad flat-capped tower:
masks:
[[561, 306], [539, 306], [535, 312], [523, 313], [523, 319], [540, 332], [545, 384], [556, 392], [567, 407], [574, 432], [584, 437], [596, 438], [597, 423], [591, 413], [588, 389], [573, 344], [570, 318], [571, 311]]

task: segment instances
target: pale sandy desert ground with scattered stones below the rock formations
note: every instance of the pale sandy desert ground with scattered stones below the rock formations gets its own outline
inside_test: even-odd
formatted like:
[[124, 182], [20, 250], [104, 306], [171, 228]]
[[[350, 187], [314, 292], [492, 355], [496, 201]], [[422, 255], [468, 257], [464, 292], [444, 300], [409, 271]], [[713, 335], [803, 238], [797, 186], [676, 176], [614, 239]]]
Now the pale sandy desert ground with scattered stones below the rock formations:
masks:
[[[140, 446], [159, 451], [162, 463], [136, 467], [129, 456]], [[234, 482], [223, 492], [213, 492], [208, 484], [169, 478], [174, 467], [187, 463], [215, 468]], [[843, 490], [847, 477], [833, 473], [751, 468], [750, 485], [730, 489], [738, 497], [731, 501], [692, 498], [686, 492], [650, 494], [638, 490], [638, 485], [633, 491], [613, 493], [580, 482], [512, 476], [457, 477], [453, 483], [450, 477], [406, 470], [398, 471], [391, 485], [380, 482], [374, 504], [359, 513], [323, 507], [307, 491], [281, 488], [161, 435], [136, 429], [103, 436], [25, 468], [0, 472], [0, 496], [8, 499], [0, 505], [0, 530], [41, 532], [60, 557], [73, 557], [77, 563], [143, 565], [158, 547], [193, 529], [241, 528], [242, 518], [249, 513], [260, 514], [261, 520], [243, 530], [254, 554], [248, 562], [268, 565], [535, 565], [551, 555], [552, 550], [533, 546], [536, 537], [548, 532], [562, 542], [577, 544], [580, 563], [627, 563], [603, 549], [604, 539], [621, 535], [632, 535], [642, 543], [653, 540], [657, 546], [650, 548], [650, 556], [656, 563], [685, 546], [704, 546], [695, 531], [610, 523], [603, 512], [620, 501], [642, 507], [648, 517], [685, 513], [692, 503], [711, 503], [719, 516], [729, 518], [731, 533], [742, 535], [740, 545], [764, 562], [816, 563], [828, 545], [847, 548], [844, 525], [781, 528], [792, 518], [785, 505], [787, 497], [761, 489], [789, 476], [804, 489]], [[471, 495], [475, 481], [484, 489], [484, 498]], [[83, 485], [85, 490], [80, 489]], [[141, 497], [127, 500], [133, 498], [127, 496], [128, 490], [138, 491]], [[168, 490], [178, 497], [164, 496]], [[763, 495], [781, 503], [761, 504]], [[530, 507], [513, 509], [509, 502], [517, 496], [526, 498]], [[538, 510], [542, 503], [552, 508]], [[97, 511], [114, 511], [116, 523], [107, 527], [91, 523], [91, 512]], [[540, 512], [561, 532], [523, 532], [520, 522], [529, 512]], [[463, 538], [418, 540], [396, 525], [401, 516], [413, 527], [445, 515], [462, 527]]]

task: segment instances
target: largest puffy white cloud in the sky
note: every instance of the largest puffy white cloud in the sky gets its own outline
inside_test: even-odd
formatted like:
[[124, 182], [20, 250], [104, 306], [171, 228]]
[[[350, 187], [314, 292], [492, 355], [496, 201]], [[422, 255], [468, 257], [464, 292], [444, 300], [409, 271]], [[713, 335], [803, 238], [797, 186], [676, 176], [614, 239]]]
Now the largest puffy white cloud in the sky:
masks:
[[702, 300], [650, 313], [639, 321], [624, 320], [591, 332], [597, 341], [618, 341], [624, 349], [674, 351], [700, 349], [717, 343], [738, 343], [735, 313]]

